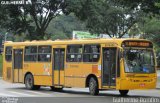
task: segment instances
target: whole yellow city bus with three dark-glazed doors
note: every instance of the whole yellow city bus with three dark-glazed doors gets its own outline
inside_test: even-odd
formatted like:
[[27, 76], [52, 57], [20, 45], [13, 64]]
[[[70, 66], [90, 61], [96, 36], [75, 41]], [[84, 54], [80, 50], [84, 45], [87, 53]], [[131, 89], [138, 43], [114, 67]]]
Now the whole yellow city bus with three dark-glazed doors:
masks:
[[144, 39], [84, 39], [6, 42], [3, 79], [27, 89], [89, 87], [129, 90], [156, 87], [152, 42]]

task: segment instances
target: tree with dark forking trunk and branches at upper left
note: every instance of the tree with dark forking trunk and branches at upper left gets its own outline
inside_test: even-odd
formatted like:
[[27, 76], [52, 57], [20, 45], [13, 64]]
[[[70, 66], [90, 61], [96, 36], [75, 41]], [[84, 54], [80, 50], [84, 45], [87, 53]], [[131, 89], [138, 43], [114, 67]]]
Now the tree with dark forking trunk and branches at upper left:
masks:
[[24, 5], [3, 5], [10, 21], [5, 23], [10, 30], [27, 33], [28, 39], [43, 39], [53, 18], [66, 8], [65, 0], [30, 0]]

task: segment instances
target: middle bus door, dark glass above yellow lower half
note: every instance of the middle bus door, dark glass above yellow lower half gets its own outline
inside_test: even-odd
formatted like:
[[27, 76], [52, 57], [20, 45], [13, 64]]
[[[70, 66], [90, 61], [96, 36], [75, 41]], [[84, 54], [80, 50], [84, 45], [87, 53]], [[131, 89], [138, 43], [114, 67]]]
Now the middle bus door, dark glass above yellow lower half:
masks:
[[64, 85], [64, 48], [53, 49], [53, 85]]

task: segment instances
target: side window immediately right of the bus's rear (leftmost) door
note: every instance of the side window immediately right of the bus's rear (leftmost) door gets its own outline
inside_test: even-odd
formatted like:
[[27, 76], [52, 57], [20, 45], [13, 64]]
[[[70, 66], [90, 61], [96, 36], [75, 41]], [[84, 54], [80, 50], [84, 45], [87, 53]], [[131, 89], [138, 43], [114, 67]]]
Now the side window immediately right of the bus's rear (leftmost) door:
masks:
[[24, 61], [37, 61], [37, 46], [26, 46]]

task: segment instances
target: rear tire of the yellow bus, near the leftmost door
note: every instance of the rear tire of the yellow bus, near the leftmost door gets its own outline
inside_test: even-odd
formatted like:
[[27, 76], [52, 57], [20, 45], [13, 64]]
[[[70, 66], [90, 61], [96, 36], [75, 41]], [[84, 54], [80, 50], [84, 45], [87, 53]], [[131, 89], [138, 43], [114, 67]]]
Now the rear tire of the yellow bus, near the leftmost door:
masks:
[[27, 74], [25, 77], [25, 86], [29, 90], [38, 90], [40, 89], [39, 85], [34, 85], [34, 78], [32, 74]]

